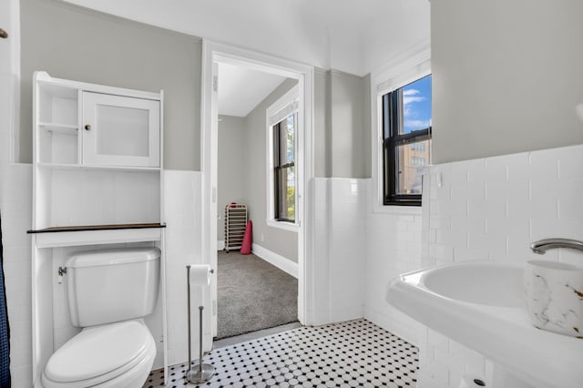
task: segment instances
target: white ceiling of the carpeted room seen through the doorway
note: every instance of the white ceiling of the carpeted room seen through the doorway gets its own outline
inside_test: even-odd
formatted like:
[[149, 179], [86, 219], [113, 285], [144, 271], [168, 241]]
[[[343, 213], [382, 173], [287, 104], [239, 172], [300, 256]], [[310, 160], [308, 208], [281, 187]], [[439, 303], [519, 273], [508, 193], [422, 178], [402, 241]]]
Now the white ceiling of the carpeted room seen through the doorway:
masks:
[[285, 77], [243, 66], [219, 64], [219, 114], [247, 117]]

